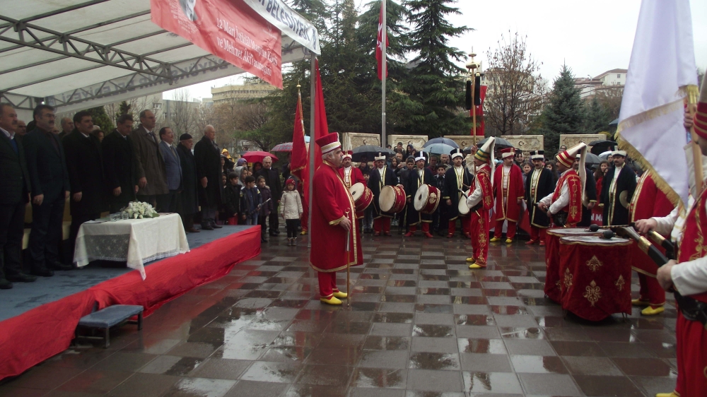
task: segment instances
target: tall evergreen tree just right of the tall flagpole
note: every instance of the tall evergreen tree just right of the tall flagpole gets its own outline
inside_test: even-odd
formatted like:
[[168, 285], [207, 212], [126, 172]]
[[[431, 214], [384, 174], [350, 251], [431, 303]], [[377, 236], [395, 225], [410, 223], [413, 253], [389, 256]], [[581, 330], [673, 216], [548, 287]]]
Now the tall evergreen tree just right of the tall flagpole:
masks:
[[469, 114], [464, 112], [465, 71], [455, 64], [463, 61], [464, 53], [448, 42], [469, 28], [455, 27], [449, 16], [460, 14], [459, 8], [450, 7], [456, 0], [407, 0], [410, 11], [411, 52], [419, 53], [412, 62], [404, 90], [412, 100], [421, 105], [410, 118], [412, 134], [435, 138], [463, 134], [470, 128]]

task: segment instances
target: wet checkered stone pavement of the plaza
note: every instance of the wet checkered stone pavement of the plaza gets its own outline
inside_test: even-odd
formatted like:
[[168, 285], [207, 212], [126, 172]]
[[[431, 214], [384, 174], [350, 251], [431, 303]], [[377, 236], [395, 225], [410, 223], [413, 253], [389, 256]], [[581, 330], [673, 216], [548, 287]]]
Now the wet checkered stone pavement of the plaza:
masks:
[[[0, 396], [653, 396], [677, 376], [676, 312], [592, 324], [543, 297], [544, 250], [364, 235], [351, 306], [318, 300], [308, 249], [262, 254], [0, 385]], [[637, 278], [631, 288], [637, 295]], [[341, 290], [346, 273], [339, 273]]]

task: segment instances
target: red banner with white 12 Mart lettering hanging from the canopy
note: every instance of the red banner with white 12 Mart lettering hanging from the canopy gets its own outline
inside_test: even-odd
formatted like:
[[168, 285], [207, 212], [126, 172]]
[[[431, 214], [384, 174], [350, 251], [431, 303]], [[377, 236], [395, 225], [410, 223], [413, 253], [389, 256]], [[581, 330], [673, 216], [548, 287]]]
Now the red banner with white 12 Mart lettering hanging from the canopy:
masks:
[[152, 21], [282, 88], [280, 30], [243, 0], [151, 0]]

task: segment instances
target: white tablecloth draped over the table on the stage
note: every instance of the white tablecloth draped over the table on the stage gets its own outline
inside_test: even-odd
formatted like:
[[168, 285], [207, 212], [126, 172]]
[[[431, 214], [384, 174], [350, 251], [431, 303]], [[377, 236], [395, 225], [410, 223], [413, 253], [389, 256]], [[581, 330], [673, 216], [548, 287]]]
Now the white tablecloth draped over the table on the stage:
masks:
[[74, 263], [127, 261], [145, 279], [144, 263], [189, 252], [182, 219], [175, 213], [157, 218], [96, 220], [83, 223], [76, 236]]

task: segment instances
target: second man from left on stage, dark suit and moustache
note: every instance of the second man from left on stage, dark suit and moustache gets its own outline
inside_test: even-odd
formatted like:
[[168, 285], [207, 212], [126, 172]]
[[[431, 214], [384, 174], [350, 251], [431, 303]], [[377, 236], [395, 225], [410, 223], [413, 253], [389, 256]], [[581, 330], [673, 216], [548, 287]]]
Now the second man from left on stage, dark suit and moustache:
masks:
[[35, 129], [22, 139], [32, 189], [30, 261], [33, 275], [51, 277], [53, 268], [65, 268], [59, 262], [59, 242], [62, 241], [64, 203], [71, 187], [64, 146], [59, 137], [52, 134], [54, 108], [37, 105], [33, 117]]

